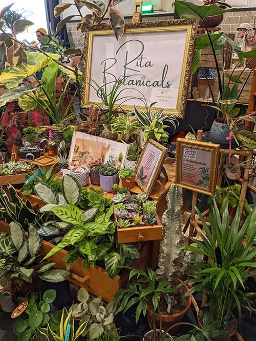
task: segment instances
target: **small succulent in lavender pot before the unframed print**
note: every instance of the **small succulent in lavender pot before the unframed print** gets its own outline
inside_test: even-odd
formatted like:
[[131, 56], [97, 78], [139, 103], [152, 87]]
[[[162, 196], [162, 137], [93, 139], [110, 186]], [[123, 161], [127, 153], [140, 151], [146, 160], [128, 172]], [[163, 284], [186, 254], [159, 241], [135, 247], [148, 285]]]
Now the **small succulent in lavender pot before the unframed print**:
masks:
[[105, 164], [95, 166], [99, 172], [100, 188], [103, 192], [112, 192], [112, 186], [119, 183], [118, 169], [115, 166], [113, 155]]

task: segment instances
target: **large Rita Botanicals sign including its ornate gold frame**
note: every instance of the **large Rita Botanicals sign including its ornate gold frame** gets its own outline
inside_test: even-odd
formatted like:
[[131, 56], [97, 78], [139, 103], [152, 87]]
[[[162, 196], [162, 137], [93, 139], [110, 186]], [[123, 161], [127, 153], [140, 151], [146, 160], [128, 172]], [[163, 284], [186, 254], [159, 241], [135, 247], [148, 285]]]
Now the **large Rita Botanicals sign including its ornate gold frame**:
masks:
[[[119, 82], [115, 105], [132, 110], [156, 103], [166, 115], [184, 118], [195, 24], [167, 20], [126, 24], [118, 41], [111, 27], [86, 31], [83, 51], [82, 107], [102, 105]], [[121, 83], [121, 84], [120, 84]]]

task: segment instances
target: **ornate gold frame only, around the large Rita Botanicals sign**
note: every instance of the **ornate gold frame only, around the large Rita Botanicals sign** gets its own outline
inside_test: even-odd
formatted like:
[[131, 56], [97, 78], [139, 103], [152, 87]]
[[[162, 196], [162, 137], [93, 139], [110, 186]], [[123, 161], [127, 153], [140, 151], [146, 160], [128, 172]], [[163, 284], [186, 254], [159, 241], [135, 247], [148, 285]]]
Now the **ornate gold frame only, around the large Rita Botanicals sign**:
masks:
[[[186, 31], [185, 39], [185, 51], [183, 55], [181, 77], [179, 83], [179, 93], [175, 108], [164, 108], [165, 114], [175, 116], [178, 118], [184, 118], [186, 110], [186, 101], [188, 93], [188, 85], [190, 78], [190, 70], [193, 61], [194, 54], [194, 42], [196, 24], [193, 21], [187, 19], [172, 19], [162, 21], [148, 21], [148, 22], [137, 22], [135, 24], [125, 24], [125, 33], [145, 33], [152, 32], [152, 38], [154, 38], [154, 32], [175, 32], [175, 31]], [[104, 26], [92, 26], [85, 31], [84, 50], [83, 50], [83, 76], [82, 76], [82, 96], [81, 106], [88, 108], [90, 105], [96, 104], [97, 106], [102, 103], [94, 103], [89, 99], [90, 79], [91, 79], [91, 66], [92, 66], [92, 52], [93, 52], [93, 38], [94, 36], [108, 36], [114, 35], [114, 32], [110, 25]], [[107, 41], [108, 39], [106, 39]], [[166, 56], [168, 59], [168, 56]], [[123, 109], [132, 110], [133, 105], [122, 105]], [[144, 107], [139, 106], [139, 109]], [[161, 106], [156, 107], [156, 110], [161, 109]]]

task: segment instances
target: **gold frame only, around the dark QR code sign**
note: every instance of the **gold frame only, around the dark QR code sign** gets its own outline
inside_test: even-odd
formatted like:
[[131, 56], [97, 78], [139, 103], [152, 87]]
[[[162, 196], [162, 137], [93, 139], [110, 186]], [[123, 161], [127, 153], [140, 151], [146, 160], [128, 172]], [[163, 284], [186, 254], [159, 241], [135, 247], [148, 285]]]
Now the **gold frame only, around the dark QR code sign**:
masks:
[[[198, 150], [207, 150], [211, 152], [210, 165], [209, 165], [209, 180], [208, 188], [200, 185], [189, 184], [182, 181], [182, 165], [183, 165], [183, 147], [195, 148]], [[177, 166], [176, 166], [176, 184], [181, 187], [203, 193], [206, 195], [214, 195], [216, 190], [218, 165], [219, 165], [219, 153], [220, 145], [215, 143], [177, 139]]]

